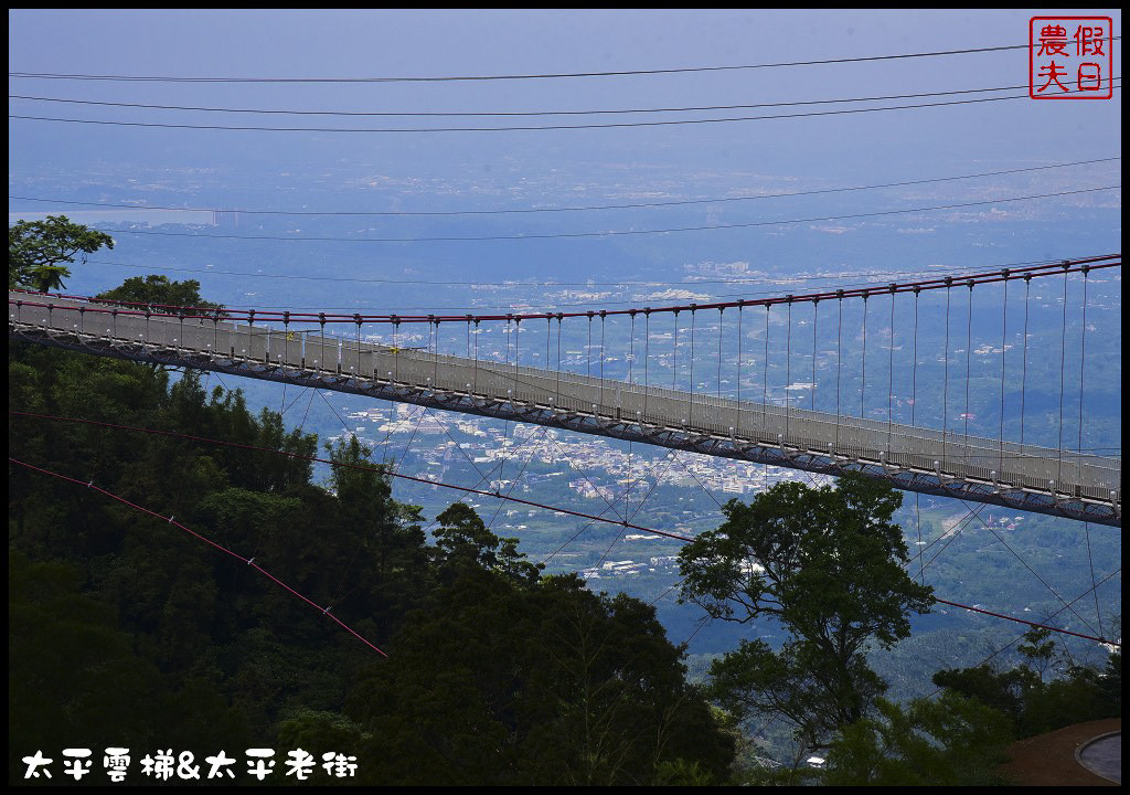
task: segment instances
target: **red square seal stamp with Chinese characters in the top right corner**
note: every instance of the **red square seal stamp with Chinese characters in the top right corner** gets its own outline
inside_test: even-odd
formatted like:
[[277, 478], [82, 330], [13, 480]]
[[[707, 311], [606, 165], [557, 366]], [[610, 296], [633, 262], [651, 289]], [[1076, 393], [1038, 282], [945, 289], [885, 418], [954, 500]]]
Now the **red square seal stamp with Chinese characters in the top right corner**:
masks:
[[1110, 100], [1114, 94], [1113, 28], [1110, 17], [1032, 17], [1028, 96]]

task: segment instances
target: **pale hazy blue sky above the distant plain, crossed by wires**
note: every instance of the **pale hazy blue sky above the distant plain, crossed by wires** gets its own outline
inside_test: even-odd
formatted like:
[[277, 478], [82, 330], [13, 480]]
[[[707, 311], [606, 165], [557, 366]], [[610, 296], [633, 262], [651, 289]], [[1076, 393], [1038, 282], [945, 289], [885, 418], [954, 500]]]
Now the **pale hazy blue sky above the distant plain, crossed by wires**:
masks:
[[[1080, 14], [1076, 11], [1076, 14]], [[9, 11], [9, 68], [16, 71], [247, 77], [446, 76], [662, 69], [852, 58], [1023, 44], [1029, 11]], [[1115, 31], [1121, 16], [1113, 12]], [[1118, 55], [1119, 47], [1115, 46]], [[1115, 74], [1120, 75], [1120, 60]], [[455, 84], [197, 86], [10, 80], [14, 93], [166, 104], [306, 110], [541, 110], [747, 104], [897, 93], [1024, 86], [1027, 54], [956, 55], [912, 61], [757, 71]], [[1016, 93], [1024, 93], [1023, 89]], [[200, 114], [16, 103], [17, 113], [200, 123]], [[51, 112], [44, 112], [44, 107]], [[1120, 139], [1120, 93], [1110, 102], [1010, 101], [968, 107], [893, 111], [845, 118], [733, 122], [659, 130], [433, 133], [408, 137], [421, 161], [436, 149], [467, 161], [518, 147], [564, 146], [602, 159], [651, 147], [686, 167], [773, 166], [867, 174], [887, 163], [1071, 159], [1111, 154]], [[730, 113], [748, 115], [749, 113]], [[725, 115], [725, 114], [722, 114]], [[215, 119], [216, 116], [210, 116]], [[245, 116], [237, 116], [246, 123]], [[293, 118], [286, 118], [294, 124]], [[606, 120], [598, 118], [598, 121]], [[299, 120], [325, 123], [332, 118]], [[393, 120], [395, 121], [395, 120]], [[400, 120], [403, 123], [405, 120]], [[410, 121], [410, 120], [409, 120]], [[464, 120], [466, 121], [466, 120]], [[216, 123], [216, 122], [212, 122]], [[219, 123], [233, 123], [231, 120]], [[254, 123], [278, 123], [258, 118]], [[368, 122], [366, 122], [367, 124]], [[315, 124], [316, 126], [316, 124]], [[329, 126], [340, 126], [330, 123]], [[388, 120], [384, 124], [390, 126]], [[415, 123], [405, 126], [415, 127]], [[92, 131], [87, 126], [15, 122], [10, 146], [73, 149], [119, 142], [137, 156], [167, 156], [189, 137], [210, 147], [290, 147], [302, 133]], [[405, 136], [332, 137], [366, 154], [406, 149]], [[321, 139], [325, 139], [322, 136]], [[79, 145], [79, 150], [86, 147]], [[140, 149], [140, 150], [139, 150]], [[454, 150], [452, 153], [451, 150]], [[545, 165], [553, 167], [551, 152]], [[327, 152], [328, 162], [332, 153]], [[446, 158], [445, 158], [446, 159]]]

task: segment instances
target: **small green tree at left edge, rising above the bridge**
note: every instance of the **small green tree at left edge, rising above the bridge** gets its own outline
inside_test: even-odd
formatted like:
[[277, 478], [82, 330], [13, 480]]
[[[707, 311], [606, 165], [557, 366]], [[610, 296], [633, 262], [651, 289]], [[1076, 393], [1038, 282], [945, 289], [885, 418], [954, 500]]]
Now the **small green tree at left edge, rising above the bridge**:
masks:
[[67, 265], [79, 253], [94, 253], [102, 247], [114, 248], [114, 239], [66, 215], [49, 215], [43, 221], [20, 221], [8, 227], [8, 286], [32, 287], [41, 292], [62, 290], [70, 277]]

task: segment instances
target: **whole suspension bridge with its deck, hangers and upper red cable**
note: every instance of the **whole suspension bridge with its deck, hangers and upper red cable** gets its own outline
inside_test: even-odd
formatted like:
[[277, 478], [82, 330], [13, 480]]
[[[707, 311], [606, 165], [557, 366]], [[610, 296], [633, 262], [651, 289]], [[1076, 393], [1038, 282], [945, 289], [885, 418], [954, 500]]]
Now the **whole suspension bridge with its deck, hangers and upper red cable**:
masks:
[[[721, 303], [461, 316], [218, 311], [9, 291], [9, 338], [811, 473], [855, 472], [901, 490], [1121, 527], [1121, 450], [1084, 446], [1089, 279], [1120, 266], [1110, 254]], [[1048, 316], [1050, 305], [1034, 306], [1033, 282], [1062, 291], [1054, 301], [1062, 306], [1052, 306], [1061, 325], [1040, 336], [1058, 343], [1051, 348], [1028, 349], [1037, 338], [1031, 316], [1040, 306]], [[871, 351], [881, 352], [878, 364], [872, 353], [870, 383], [869, 323]], [[1071, 349], [1069, 330], [1078, 337]], [[537, 338], [525, 364], [522, 334]], [[1028, 373], [1035, 379], [1037, 368], [1036, 391], [1058, 388], [1058, 424], [1046, 406], [1026, 424]], [[1058, 384], [1049, 383], [1054, 375]], [[994, 407], [996, 433], [977, 406]], [[1066, 414], [1076, 408], [1072, 429]], [[1119, 455], [1098, 455], [1109, 449]]]

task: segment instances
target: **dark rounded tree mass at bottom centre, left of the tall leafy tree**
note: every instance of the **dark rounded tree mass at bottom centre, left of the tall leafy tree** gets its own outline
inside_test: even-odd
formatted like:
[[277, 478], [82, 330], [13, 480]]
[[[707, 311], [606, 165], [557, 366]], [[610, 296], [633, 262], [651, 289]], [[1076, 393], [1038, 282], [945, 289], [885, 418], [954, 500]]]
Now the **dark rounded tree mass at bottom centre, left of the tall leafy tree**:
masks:
[[[464, 562], [466, 563], [466, 562]], [[724, 780], [733, 741], [653, 607], [461, 564], [346, 700], [388, 785]]]

